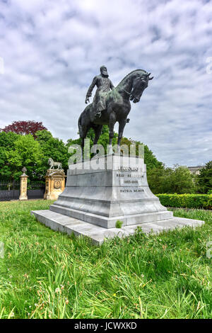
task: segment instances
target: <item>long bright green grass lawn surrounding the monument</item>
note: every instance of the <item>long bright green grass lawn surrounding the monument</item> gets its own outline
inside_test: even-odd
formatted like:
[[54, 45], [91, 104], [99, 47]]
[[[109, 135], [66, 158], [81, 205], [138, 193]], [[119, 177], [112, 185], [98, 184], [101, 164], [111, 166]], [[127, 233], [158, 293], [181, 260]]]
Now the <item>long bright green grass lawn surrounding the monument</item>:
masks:
[[30, 215], [49, 203], [0, 203], [0, 318], [212, 317], [211, 212], [175, 210], [206, 221], [195, 230], [137, 232], [97, 247]]

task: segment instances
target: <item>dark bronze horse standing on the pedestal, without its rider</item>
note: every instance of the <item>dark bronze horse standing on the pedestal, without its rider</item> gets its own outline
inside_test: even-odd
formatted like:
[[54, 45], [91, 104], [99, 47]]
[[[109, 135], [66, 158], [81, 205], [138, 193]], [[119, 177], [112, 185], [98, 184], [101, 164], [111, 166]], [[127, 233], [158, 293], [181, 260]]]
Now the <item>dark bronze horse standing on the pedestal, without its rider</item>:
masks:
[[153, 79], [150, 77], [151, 73], [143, 69], [136, 69], [129, 73], [122, 79], [116, 88], [112, 89], [107, 95], [106, 106], [107, 110], [102, 111], [100, 118], [91, 121], [90, 119], [90, 103], [85, 110], [81, 113], [78, 119], [79, 135], [82, 139], [81, 147], [84, 147], [84, 139], [90, 128], [95, 131], [94, 145], [98, 143], [101, 134], [102, 125], [109, 125], [110, 130], [110, 153], [112, 152], [112, 138], [114, 136], [114, 124], [119, 123], [119, 136], [117, 145], [120, 147], [124, 126], [128, 122], [127, 115], [131, 109], [130, 101], [138, 103], [144, 89], [148, 86], [148, 81]]

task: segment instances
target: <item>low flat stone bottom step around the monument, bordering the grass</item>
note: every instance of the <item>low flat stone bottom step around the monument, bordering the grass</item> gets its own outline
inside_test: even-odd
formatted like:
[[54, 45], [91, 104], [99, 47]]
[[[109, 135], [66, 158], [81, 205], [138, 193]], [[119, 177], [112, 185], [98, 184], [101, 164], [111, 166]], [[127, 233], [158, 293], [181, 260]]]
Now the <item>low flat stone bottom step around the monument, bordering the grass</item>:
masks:
[[201, 220], [192, 220], [189, 218], [170, 218], [168, 220], [160, 220], [156, 222], [146, 222], [138, 225], [127, 225], [120, 229], [106, 229], [89, 222], [84, 222], [76, 218], [52, 212], [51, 210], [32, 210], [31, 214], [35, 216], [41, 223], [50, 227], [52, 230], [66, 232], [68, 235], [72, 232], [76, 235], [89, 237], [95, 244], [102, 244], [105, 239], [113, 237], [126, 237], [133, 235], [137, 227], [141, 227], [143, 232], [159, 233], [164, 230], [174, 230], [176, 227], [198, 227], [204, 224]]

